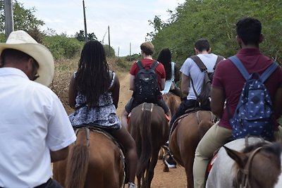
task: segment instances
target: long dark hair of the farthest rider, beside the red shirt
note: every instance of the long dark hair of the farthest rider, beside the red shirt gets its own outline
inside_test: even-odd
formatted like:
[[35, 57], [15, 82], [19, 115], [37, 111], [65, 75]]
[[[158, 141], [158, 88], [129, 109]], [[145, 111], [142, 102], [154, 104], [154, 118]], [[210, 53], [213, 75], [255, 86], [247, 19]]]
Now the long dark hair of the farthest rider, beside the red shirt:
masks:
[[159, 52], [157, 61], [164, 65], [166, 70], [166, 80], [171, 80], [171, 51], [169, 49], [162, 49]]

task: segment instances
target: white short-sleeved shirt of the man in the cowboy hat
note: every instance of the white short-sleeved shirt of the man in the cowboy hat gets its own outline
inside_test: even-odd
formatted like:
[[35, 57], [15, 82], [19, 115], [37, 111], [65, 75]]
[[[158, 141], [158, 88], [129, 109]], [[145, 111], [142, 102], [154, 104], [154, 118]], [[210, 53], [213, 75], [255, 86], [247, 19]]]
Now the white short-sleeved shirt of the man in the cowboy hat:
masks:
[[59, 98], [17, 68], [0, 68], [0, 187], [36, 187], [52, 176], [51, 151], [75, 142]]

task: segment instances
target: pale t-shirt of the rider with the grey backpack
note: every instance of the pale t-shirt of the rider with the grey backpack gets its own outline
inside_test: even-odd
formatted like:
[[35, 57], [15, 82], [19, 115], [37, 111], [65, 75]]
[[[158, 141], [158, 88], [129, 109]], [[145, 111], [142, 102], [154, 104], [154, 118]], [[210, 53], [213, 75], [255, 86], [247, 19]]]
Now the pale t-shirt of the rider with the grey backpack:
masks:
[[[198, 54], [197, 55], [204, 65], [207, 67], [208, 73], [214, 72], [214, 65], [216, 63], [217, 56], [215, 54]], [[190, 77], [193, 80], [193, 84], [197, 94], [200, 94], [202, 83], [204, 81], [204, 73], [201, 72], [197, 64], [192, 60], [192, 58], [187, 58], [180, 68], [180, 72], [184, 75]], [[187, 99], [197, 99], [194, 89], [192, 87], [192, 82], [190, 82], [190, 90]]]

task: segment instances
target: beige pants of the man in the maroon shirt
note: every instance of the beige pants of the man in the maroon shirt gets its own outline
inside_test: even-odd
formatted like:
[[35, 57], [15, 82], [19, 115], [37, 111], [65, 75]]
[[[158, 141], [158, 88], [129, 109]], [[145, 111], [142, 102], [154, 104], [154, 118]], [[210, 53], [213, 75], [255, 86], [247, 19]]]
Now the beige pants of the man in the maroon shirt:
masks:
[[[278, 127], [279, 131], [274, 132], [276, 139], [282, 136], [282, 127]], [[212, 158], [214, 151], [226, 144], [228, 139], [232, 139], [232, 130], [228, 130], [219, 126], [219, 122], [215, 123], [199, 142], [193, 165], [194, 187], [204, 188], [204, 177], [206, 175], [207, 165]]]

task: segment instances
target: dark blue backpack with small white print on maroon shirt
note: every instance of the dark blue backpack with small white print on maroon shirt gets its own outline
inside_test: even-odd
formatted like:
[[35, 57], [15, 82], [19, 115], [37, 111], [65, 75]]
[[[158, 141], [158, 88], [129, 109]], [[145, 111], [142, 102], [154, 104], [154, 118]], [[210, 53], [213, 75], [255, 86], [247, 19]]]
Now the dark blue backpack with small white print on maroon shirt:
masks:
[[264, 82], [276, 70], [278, 64], [272, 63], [262, 75], [258, 73], [249, 75], [236, 56], [229, 59], [246, 80], [233, 118], [230, 119], [233, 138], [258, 136], [269, 141], [273, 140], [274, 110]]

